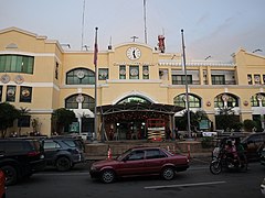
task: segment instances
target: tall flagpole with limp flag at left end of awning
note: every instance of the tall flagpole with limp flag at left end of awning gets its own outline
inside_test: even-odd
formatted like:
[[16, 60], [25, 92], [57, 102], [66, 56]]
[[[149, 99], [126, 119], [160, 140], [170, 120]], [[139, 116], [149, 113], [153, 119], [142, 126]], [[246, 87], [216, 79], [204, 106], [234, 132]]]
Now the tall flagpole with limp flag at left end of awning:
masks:
[[95, 46], [94, 46], [94, 66], [95, 66], [95, 107], [94, 107], [94, 133], [95, 138], [94, 141], [97, 141], [97, 53], [98, 53], [98, 46], [97, 46], [97, 30], [98, 28], [95, 28]]

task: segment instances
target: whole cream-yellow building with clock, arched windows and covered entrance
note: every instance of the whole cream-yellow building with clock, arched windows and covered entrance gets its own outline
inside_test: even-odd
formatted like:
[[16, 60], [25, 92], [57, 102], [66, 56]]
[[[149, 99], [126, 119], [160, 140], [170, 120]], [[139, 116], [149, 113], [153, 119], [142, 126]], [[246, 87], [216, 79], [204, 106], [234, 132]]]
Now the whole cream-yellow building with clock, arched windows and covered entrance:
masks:
[[[97, 59], [98, 139], [146, 139], [148, 119], [174, 128], [179, 107], [186, 107], [180, 53], [131, 42], [100, 47]], [[57, 41], [17, 28], [0, 31], [0, 101], [29, 110], [22, 134], [32, 132], [38, 120], [38, 131], [51, 135], [51, 116], [59, 108], [75, 112], [78, 132], [94, 132], [93, 62], [92, 51], [66, 51]], [[264, 128], [264, 56], [239, 50], [231, 63], [188, 59], [186, 65], [190, 110], [204, 110], [212, 130], [219, 107], [233, 108], [241, 121], [259, 120]], [[9, 133], [14, 131], [18, 122]]]

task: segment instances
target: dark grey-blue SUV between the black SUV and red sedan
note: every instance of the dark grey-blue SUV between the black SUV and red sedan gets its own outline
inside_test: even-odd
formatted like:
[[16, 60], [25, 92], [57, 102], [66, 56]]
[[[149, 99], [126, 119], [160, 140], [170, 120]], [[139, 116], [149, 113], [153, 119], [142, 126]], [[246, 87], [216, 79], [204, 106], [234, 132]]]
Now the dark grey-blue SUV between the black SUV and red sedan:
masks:
[[43, 140], [44, 155], [47, 166], [66, 172], [77, 163], [83, 163], [84, 145], [82, 140], [68, 136], [55, 136]]

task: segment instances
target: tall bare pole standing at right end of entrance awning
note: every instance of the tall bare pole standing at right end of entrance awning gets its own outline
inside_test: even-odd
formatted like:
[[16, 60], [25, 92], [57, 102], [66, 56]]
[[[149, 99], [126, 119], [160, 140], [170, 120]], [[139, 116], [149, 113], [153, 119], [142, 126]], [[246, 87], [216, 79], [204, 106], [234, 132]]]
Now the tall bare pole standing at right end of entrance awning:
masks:
[[190, 129], [190, 101], [189, 101], [189, 90], [188, 90], [188, 79], [187, 79], [187, 67], [186, 67], [186, 46], [184, 46], [184, 31], [181, 30], [182, 37], [182, 52], [183, 52], [183, 67], [186, 76], [186, 107], [187, 107], [187, 117], [188, 117], [188, 135], [191, 139], [191, 129]]

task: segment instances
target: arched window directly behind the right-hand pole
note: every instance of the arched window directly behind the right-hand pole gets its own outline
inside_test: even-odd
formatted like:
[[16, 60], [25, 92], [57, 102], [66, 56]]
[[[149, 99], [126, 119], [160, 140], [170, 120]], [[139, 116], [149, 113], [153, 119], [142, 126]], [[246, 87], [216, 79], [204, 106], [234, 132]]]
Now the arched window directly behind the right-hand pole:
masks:
[[[179, 95], [173, 98], [174, 106], [186, 107], [186, 95]], [[189, 107], [190, 108], [201, 108], [201, 99], [195, 95], [189, 95]]]

